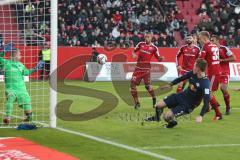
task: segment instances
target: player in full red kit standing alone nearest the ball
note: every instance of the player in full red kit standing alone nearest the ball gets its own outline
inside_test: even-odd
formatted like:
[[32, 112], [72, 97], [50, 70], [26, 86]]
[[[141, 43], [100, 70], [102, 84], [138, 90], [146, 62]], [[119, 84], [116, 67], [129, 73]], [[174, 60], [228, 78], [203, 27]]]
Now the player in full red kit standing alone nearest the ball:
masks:
[[137, 94], [137, 86], [140, 84], [142, 79], [144, 81], [145, 88], [152, 96], [153, 106], [155, 106], [156, 104], [156, 96], [151, 85], [150, 62], [152, 56], [155, 56], [159, 62], [163, 60], [163, 57], [160, 56], [158, 48], [152, 44], [152, 37], [152, 34], [146, 34], [145, 42], [139, 42], [132, 53], [133, 58], [137, 59], [137, 66], [131, 80], [131, 94], [135, 102], [135, 109], [140, 108]]

